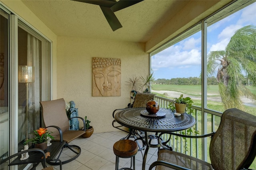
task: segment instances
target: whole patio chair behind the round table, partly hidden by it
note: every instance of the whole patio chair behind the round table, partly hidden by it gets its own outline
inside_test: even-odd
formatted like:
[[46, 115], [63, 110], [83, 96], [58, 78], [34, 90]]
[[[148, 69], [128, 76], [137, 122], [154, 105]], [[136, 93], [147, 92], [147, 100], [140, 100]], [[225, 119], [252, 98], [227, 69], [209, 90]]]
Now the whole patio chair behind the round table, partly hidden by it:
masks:
[[[130, 107], [145, 107], [146, 109], [146, 103], [150, 100], [154, 100], [154, 97], [155, 97], [156, 94], [153, 94], [153, 93], [137, 93], [136, 96], [135, 96], [135, 99], [134, 99], [134, 103], [130, 106]], [[124, 109], [127, 109], [127, 108], [124, 108]], [[115, 113], [116, 111], [120, 111], [120, 110], [124, 110], [124, 109], [116, 109], [113, 111], [112, 113], [112, 116], [113, 118], [115, 119]], [[125, 128], [121, 128], [123, 127], [122, 125], [114, 125], [114, 123], [116, 123], [116, 120], [114, 120], [112, 122], [112, 126], [114, 128], [118, 128], [119, 130], [123, 130], [125, 132], [128, 132], [128, 135], [125, 137], [126, 139], [129, 139], [129, 138], [134, 138], [134, 140], [142, 140], [142, 143], [143, 143], [143, 146], [140, 146], [140, 144], [138, 143], [138, 147], [139, 147], [139, 150], [142, 150], [145, 148], [145, 144], [144, 144], [144, 132], [142, 131], [139, 131], [139, 130], [134, 130], [134, 129], [129, 129], [129, 130], [126, 130]], [[124, 139], [124, 138], [122, 138]]]

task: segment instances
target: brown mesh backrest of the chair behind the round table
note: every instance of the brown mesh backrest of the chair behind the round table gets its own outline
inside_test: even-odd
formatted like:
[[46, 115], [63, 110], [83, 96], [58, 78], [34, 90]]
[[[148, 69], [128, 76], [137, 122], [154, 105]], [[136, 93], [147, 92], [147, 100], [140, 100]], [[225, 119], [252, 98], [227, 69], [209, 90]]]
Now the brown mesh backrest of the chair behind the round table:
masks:
[[137, 93], [132, 107], [146, 107], [150, 100], [154, 100], [156, 94], [153, 93]]

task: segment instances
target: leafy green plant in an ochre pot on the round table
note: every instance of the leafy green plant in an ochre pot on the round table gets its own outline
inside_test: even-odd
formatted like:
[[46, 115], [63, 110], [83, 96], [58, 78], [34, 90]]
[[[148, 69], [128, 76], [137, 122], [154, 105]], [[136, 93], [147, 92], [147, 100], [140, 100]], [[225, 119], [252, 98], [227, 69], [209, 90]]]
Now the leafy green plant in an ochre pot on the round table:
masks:
[[174, 98], [174, 102], [170, 103], [170, 109], [172, 111], [176, 110], [176, 113], [193, 113], [192, 103], [194, 103], [190, 97], [183, 97], [183, 94], [179, 98]]

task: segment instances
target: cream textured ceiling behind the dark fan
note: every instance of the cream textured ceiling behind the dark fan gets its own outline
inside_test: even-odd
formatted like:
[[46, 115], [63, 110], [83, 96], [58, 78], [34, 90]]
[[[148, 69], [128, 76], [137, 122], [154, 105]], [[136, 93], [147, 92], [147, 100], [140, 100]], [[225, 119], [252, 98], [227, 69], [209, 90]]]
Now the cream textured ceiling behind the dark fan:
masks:
[[144, 0], [115, 12], [122, 28], [112, 31], [100, 7], [71, 0], [22, 0], [58, 36], [147, 42], [188, 0]]

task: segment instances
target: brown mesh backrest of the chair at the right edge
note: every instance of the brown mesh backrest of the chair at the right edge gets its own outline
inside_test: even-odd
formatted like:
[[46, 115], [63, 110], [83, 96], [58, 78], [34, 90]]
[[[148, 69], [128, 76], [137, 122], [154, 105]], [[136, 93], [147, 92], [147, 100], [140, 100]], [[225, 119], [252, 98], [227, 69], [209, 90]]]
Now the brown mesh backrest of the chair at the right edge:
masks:
[[228, 109], [210, 142], [214, 170], [240, 170], [250, 165], [256, 155], [256, 116]]

